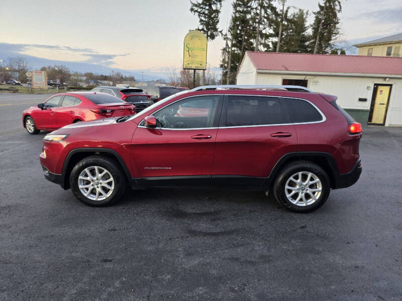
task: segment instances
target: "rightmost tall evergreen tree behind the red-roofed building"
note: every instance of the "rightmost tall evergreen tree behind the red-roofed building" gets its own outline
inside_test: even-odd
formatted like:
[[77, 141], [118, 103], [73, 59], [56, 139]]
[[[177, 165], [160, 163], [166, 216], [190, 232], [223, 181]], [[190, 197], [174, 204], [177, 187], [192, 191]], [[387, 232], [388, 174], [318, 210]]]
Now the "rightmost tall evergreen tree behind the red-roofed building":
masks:
[[342, 5], [340, 0], [324, 0], [324, 4], [319, 3], [318, 7], [314, 13], [311, 48], [313, 53], [327, 54], [334, 49], [334, 41], [339, 36], [338, 14], [342, 12]]

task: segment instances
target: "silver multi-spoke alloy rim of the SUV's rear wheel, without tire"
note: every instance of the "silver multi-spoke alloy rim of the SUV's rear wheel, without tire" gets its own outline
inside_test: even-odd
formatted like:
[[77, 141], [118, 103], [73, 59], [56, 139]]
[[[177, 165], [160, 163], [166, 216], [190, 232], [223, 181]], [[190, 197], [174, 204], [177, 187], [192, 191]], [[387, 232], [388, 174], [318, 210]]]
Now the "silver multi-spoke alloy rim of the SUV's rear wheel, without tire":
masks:
[[286, 198], [296, 206], [314, 204], [321, 196], [323, 186], [318, 176], [311, 172], [298, 172], [285, 184]]

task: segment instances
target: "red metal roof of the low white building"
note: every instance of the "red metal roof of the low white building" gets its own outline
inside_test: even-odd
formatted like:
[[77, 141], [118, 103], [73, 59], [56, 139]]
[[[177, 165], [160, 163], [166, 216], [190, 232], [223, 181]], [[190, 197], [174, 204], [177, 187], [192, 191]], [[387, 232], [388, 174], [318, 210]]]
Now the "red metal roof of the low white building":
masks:
[[402, 58], [247, 51], [256, 69], [402, 75]]

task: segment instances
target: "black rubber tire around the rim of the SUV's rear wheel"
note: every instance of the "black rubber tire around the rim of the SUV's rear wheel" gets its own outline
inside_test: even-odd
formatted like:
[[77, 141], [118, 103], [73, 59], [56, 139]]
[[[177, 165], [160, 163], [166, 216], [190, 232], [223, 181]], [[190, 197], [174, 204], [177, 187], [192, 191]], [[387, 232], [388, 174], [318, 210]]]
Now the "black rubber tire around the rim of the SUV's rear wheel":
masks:
[[[318, 186], [318, 184], [312, 184], [309, 187], [301, 187], [298, 191], [295, 191], [296, 196], [293, 196], [292, 200], [299, 205], [293, 204], [290, 202], [285, 194], [285, 185], [286, 182], [295, 174], [299, 172], [307, 172], [307, 173], [312, 173], [314, 176], [316, 176], [320, 181], [321, 181], [321, 187]], [[298, 176], [297, 176], [298, 177]], [[303, 177], [307, 177], [305, 174], [303, 174]], [[303, 178], [302, 178], [302, 181]], [[293, 181], [289, 181], [289, 184], [293, 183], [295, 185], [295, 188], [297, 188], [297, 184], [295, 184]], [[303, 185], [302, 185], [303, 186]], [[313, 197], [311, 196], [311, 191], [310, 193], [308, 189], [321, 189], [321, 193], [319, 197], [317, 197], [317, 200], [314, 201]], [[302, 196], [302, 192], [300, 190], [303, 190], [303, 195], [307, 196], [307, 198], [310, 199], [312, 202], [311, 204], [304, 205], [306, 203], [301, 201], [296, 201], [294, 199], [297, 199], [298, 196]], [[306, 190], [306, 191], [304, 191]], [[328, 196], [330, 194], [331, 190], [331, 184], [330, 184], [330, 179], [327, 175], [327, 173], [317, 164], [314, 164], [309, 161], [294, 161], [288, 165], [286, 165], [278, 174], [275, 184], [273, 185], [273, 193], [275, 196], [275, 199], [279, 202], [279, 204], [283, 205], [286, 209], [297, 212], [297, 213], [308, 213], [312, 212], [314, 210], [317, 210], [321, 206], [324, 205], [324, 203], [327, 201]], [[292, 192], [292, 190], [287, 190], [289, 194]], [[306, 194], [305, 194], [306, 193]], [[313, 193], [314, 194], [314, 193]], [[301, 203], [304, 204], [301, 204]]]

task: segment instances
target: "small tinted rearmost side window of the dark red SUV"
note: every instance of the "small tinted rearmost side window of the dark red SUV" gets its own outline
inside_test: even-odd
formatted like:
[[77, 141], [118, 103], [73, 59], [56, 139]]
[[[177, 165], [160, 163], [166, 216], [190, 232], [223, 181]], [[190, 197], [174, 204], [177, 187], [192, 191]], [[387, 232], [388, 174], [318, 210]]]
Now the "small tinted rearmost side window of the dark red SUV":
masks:
[[315, 122], [323, 120], [323, 116], [309, 102], [302, 99], [283, 98], [293, 123]]

